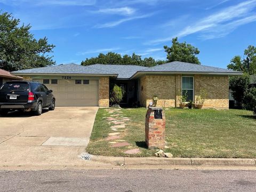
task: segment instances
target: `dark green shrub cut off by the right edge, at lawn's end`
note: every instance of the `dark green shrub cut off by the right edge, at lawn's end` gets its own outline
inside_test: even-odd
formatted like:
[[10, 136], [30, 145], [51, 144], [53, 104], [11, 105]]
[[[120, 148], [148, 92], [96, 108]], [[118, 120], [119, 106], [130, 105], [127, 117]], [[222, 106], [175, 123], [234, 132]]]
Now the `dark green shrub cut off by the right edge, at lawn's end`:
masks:
[[256, 115], [256, 88], [252, 87], [245, 91], [243, 99], [244, 107], [246, 110], [252, 110]]

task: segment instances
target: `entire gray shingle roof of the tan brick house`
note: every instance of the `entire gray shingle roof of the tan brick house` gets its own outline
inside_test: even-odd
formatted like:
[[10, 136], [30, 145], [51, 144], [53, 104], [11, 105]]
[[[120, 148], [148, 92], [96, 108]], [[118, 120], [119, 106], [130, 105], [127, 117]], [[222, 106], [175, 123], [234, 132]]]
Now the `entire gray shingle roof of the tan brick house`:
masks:
[[88, 75], [109, 75], [118, 79], [131, 79], [143, 74], [211, 74], [211, 75], [242, 75], [240, 71], [233, 71], [217, 67], [196, 65], [193, 63], [173, 61], [155, 67], [143, 67], [135, 65], [103, 65], [95, 64], [90, 66], [56, 65], [34, 69], [13, 71], [14, 74], [88, 74]]

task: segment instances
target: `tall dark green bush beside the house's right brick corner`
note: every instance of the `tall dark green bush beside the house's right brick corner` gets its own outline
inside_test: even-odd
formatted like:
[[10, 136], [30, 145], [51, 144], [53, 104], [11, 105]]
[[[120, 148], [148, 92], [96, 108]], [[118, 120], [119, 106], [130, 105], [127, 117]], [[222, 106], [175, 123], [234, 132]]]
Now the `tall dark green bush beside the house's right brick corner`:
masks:
[[230, 89], [233, 91], [232, 96], [237, 102], [237, 106], [242, 108], [244, 93], [248, 89], [250, 78], [248, 75], [235, 76], [229, 79]]

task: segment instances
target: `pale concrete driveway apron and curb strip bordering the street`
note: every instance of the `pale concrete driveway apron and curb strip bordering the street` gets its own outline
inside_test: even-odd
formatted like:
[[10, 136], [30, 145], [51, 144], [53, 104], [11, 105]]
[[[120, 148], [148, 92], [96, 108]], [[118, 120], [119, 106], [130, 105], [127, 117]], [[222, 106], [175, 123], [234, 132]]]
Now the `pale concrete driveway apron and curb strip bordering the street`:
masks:
[[0, 146], [0, 170], [51, 169], [250, 169], [256, 170], [256, 159], [238, 158], [164, 158], [79, 157], [85, 147]]

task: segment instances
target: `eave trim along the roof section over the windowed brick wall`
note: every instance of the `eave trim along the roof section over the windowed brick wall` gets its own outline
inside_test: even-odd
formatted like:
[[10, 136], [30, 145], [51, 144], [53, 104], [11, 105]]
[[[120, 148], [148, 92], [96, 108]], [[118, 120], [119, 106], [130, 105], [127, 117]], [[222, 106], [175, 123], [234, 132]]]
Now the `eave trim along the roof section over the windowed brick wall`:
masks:
[[231, 72], [201, 72], [201, 71], [137, 71], [130, 79], [135, 78], [138, 75], [146, 75], [146, 74], [198, 74], [198, 75], [243, 75], [242, 72], [231, 71]]

